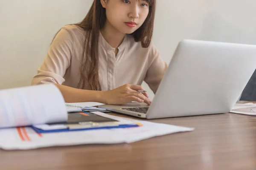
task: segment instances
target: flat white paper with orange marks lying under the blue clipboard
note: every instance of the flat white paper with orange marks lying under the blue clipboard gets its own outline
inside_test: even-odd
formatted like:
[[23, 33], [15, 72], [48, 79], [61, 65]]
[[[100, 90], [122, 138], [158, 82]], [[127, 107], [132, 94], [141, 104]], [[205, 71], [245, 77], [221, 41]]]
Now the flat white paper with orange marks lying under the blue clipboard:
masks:
[[[93, 112], [99, 115], [104, 113]], [[109, 116], [111, 119], [132, 121], [140, 127], [114, 128], [38, 134], [31, 127], [0, 130], [0, 148], [5, 150], [26, 150], [39, 147], [66, 146], [78, 144], [116, 144], [131, 143], [154, 136], [192, 131], [194, 128], [153, 123], [135, 119]]]

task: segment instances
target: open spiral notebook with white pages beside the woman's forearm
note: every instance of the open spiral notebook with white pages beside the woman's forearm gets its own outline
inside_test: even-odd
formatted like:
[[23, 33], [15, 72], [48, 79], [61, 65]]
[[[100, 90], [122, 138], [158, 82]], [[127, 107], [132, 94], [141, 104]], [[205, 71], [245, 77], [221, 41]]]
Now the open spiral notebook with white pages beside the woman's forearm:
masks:
[[110, 112], [106, 109], [96, 108], [94, 106], [104, 105], [103, 103], [98, 102], [79, 102], [79, 103], [65, 103], [67, 112], [79, 112], [79, 111], [101, 111], [101, 112]]

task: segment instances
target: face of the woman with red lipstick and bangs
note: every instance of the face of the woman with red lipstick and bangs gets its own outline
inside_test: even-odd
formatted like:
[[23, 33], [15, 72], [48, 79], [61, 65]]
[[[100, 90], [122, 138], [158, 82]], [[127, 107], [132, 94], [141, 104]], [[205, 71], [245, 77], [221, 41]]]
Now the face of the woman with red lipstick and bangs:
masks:
[[149, 12], [146, 0], [101, 0], [101, 3], [106, 8], [108, 24], [124, 34], [140, 28]]

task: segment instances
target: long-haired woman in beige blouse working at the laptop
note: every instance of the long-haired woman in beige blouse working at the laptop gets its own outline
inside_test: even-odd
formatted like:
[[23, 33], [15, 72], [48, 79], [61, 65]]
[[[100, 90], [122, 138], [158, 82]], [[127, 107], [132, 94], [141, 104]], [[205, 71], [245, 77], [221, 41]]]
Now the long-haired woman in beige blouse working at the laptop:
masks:
[[[32, 85], [54, 83], [65, 102], [151, 101], [167, 65], [151, 43], [155, 0], [94, 0], [79, 24], [56, 34]], [[118, 87], [118, 88], [116, 88]]]

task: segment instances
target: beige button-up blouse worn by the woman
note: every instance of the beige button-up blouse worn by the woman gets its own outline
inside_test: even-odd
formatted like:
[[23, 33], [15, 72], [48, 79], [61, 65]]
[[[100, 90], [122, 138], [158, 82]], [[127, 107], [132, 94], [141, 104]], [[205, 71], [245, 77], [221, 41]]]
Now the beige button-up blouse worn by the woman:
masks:
[[[68, 25], [61, 28], [49, 48], [32, 85], [58, 83], [73, 88], [80, 80], [81, 57], [84, 44], [84, 30], [79, 26]], [[151, 43], [142, 48], [141, 42], [126, 35], [118, 47], [118, 54], [99, 36], [99, 79], [102, 91], [112, 90], [125, 84], [141, 85], [143, 80], [154, 93], [163, 77], [166, 67], [157, 49]], [[90, 90], [88, 85], [84, 89]]]

